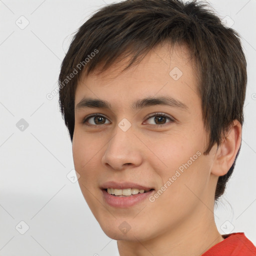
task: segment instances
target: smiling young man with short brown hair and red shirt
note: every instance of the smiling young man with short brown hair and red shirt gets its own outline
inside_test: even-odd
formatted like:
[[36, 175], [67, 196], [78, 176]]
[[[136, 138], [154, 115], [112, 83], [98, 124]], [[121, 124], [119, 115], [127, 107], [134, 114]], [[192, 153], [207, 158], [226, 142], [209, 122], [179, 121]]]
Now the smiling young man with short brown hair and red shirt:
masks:
[[126, 0], [77, 31], [59, 75], [81, 191], [127, 255], [256, 255], [214, 202], [241, 144], [238, 34], [196, 2]]

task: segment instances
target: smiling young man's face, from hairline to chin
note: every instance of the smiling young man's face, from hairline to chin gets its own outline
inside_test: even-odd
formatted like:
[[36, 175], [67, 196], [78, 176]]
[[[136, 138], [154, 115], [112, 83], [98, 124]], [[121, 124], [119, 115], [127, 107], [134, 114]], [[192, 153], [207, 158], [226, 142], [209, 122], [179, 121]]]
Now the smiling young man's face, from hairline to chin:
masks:
[[214, 154], [203, 155], [208, 135], [186, 48], [157, 46], [119, 72], [126, 61], [80, 80], [72, 151], [83, 196], [106, 235], [143, 241], [208, 211], [201, 201], [214, 203]]

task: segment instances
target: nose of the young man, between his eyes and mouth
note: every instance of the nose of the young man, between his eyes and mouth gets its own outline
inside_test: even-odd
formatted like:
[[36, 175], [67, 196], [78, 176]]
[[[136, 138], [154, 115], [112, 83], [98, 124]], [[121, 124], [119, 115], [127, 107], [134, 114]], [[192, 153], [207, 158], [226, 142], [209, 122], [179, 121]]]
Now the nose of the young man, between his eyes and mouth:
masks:
[[107, 143], [102, 156], [102, 164], [108, 168], [122, 170], [125, 166], [139, 166], [143, 160], [141, 142], [132, 128], [123, 131], [118, 126]]

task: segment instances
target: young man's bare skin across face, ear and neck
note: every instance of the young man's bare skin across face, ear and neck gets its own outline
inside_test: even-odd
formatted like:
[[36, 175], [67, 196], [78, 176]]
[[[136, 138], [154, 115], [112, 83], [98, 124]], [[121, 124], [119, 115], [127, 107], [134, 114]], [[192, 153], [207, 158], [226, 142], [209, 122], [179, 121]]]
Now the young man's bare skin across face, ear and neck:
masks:
[[[124, 72], [119, 71], [128, 59], [101, 74], [84, 75], [75, 91], [75, 106], [84, 96], [107, 100], [112, 106], [75, 110], [72, 152], [83, 196], [105, 234], [117, 240], [120, 256], [199, 256], [223, 240], [214, 222], [214, 191], [218, 176], [234, 161], [241, 125], [235, 120], [221, 145], [203, 155], [208, 133], [194, 63], [185, 46], [169, 49], [167, 44], [155, 47]], [[169, 75], [175, 66], [182, 71], [178, 80]], [[165, 105], [131, 109], [136, 99], [166, 95], [182, 101], [187, 109]], [[155, 112], [174, 121], [148, 118]], [[95, 123], [94, 117], [82, 123], [85, 116], [97, 113], [106, 118], [96, 119], [102, 124]], [[118, 126], [123, 118], [131, 123], [127, 131]], [[159, 123], [162, 126], [155, 127]], [[197, 151], [200, 156], [154, 202], [145, 199], [116, 208], [104, 201], [99, 188], [103, 182], [133, 181], [157, 191]], [[118, 228], [123, 221], [130, 226], [126, 233]]]

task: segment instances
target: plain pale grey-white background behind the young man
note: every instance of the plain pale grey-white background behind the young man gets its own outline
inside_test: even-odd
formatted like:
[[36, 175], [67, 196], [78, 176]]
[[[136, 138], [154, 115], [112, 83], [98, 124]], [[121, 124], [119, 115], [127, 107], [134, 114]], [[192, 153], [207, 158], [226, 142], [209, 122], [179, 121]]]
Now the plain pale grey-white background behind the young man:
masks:
[[[57, 86], [72, 33], [110, 2], [0, 0], [1, 256], [118, 255], [116, 241], [70, 181], [72, 172], [66, 176], [73, 169], [71, 142], [58, 95], [46, 98]], [[256, 0], [208, 2], [234, 21], [248, 62], [242, 147], [215, 220], [222, 234], [245, 232], [256, 244]]]

